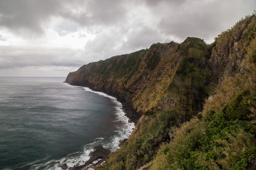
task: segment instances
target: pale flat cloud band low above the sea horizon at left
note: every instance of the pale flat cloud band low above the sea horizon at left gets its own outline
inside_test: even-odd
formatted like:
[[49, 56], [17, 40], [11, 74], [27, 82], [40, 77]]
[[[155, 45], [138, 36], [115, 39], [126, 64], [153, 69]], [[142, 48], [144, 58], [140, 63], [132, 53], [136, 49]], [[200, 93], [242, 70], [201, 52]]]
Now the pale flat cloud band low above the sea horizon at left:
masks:
[[25, 66], [81, 66], [83, 58], [75, 57], [78, 50], [0, 46], [0, 69]]

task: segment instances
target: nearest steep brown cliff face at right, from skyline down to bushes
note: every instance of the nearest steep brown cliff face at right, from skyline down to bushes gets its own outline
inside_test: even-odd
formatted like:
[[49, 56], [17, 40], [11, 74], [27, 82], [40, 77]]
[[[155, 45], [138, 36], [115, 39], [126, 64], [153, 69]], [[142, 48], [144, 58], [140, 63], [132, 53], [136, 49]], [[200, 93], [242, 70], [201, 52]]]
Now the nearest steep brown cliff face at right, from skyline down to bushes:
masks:
[[241, 20], [232, 29], [223, 31], [216, 38], [209, 60], [214, 84], [223, 81], [225, 77], [243, 73], [240, 62], [247, 53], [245, 47], [249, 45], [247, 41], [250, 23], [249, 19]]

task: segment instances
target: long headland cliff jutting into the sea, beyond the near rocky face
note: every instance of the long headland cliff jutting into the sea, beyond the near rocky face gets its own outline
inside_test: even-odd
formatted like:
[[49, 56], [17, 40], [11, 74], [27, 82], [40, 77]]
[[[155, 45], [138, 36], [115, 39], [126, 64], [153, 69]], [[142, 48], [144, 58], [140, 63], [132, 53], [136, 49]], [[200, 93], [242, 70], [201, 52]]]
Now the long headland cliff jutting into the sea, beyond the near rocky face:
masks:
[[[152, 108], [168, 110], [184, 98], [186, 88], [195, 90], [189, 97], [205, 95], [202, 86], [209, 81], [209, 76], [205, 76], [210, 57], [207, 50], [209, 47], [199, 38], [187, 38], [181, 44], [157, 43], [150, 49], [84, 65], [70, 73], [65, 82], [114, 95], [137, 112]], [[198, 89], [202, 94], [194, 94]], [[200, 98], [192, 105], [200, 105], [204, 97]], [[191, 103], [184, 105], [194, 107]]]

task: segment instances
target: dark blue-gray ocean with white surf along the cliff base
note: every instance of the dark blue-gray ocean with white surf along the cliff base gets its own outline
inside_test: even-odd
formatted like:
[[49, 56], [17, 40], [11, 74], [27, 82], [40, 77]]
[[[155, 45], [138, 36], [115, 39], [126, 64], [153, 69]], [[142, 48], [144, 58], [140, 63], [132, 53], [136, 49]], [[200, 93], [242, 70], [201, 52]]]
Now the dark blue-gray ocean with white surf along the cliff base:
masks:
[[130, 122], [115, 97], [63, 83], [65, 77], [0, 77], [0, 170], [61, 170], [111, 151]]

